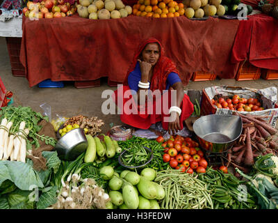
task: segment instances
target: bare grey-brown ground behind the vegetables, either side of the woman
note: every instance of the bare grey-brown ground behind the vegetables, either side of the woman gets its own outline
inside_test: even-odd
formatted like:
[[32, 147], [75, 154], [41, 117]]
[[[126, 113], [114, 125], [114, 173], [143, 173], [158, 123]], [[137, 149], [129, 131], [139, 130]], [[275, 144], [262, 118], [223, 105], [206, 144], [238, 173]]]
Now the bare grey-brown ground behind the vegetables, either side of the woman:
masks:
[[[101, 112], [101, 105], [106, 98], [101, 98], [101, 93], [106, 89], [115, 90], [109, 87], [104, 80], [101, 86], [90, 89], [76, 89], [73, 82], [65, 82], [62, 89], [42, 89], [34, 86], [30, 88], [28, 81], [23, 77], [13, 77], [10, 68], [10, 59], [6, 47], [5, 38], [0, 37], [0, 77], [8, 91], [13, 91], [15, 105], [30, 106], [37, 112], [42, 112], [40, 105], [46, 102], [51, 105], [51, 116], [98, 116], [106, 123], [102, 128], [107, 132], [109, 123], [120, 124], [119, 115], [104, 115]], [[216, 79], [209, 82], [190, 82], [184, 89], [202, 90], [207, 86], [247, 86], [254, 89], [263, 89], [268, 86], [278, 86], [278, 80], [258, 79], [256, 81], [237, 82], [235, 79]]]

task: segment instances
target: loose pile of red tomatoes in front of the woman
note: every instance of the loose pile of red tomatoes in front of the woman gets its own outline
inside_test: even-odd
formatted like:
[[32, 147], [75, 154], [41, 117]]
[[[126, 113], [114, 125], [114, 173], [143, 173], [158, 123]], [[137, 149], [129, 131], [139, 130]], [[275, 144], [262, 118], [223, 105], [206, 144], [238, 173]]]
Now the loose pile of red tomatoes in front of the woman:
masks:
[[206, 173], [208, 162], [204, 159], [204, 153], [196, 141], [179, 135], [171, 136], [168, 140], [157, 137], [156, 141], [162, 144], [163, 162], [169, 162], [170, 167], [180, 169], [182, 172], [186, 171], [188, 174], [193, 174], [194, 171]]

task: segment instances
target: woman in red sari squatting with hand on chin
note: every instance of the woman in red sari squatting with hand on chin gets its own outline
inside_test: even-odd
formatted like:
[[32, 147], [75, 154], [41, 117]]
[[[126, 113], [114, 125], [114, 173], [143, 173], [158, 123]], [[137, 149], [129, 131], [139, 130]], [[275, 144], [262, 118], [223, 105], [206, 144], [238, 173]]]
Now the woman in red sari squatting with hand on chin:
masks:
[[[120, 92], [128, 96], [119, 100]], [[160, 92], [159, 97], [157, 92]], [[155, 38], [145, 40], [138, 47], [122, 89], [117, 89], [114, 97], [118, 107], [126, 108], [127, 104], [133, 107], [133, 112], [122, 109], [121, 121], [140, 129], [148, 129], [161, 121], [163, 128], [174, 134], [183, 128], [183, 121], [194, 111], [188, 95], [183, 92], [176, 66], [164, 56], [163, 47]]]

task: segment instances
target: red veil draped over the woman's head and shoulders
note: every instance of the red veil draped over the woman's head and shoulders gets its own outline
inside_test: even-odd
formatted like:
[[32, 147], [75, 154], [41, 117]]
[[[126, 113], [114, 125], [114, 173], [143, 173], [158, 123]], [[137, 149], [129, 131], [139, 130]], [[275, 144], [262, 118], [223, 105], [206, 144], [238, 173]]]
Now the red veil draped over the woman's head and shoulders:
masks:
[[139, 59], [139, 56], [140, 56], [142, 50], [145, 48], [145, 46], [148, 43], [158, 43], [158, 45], [161, 48], [161, 55], [159, 56], [159, 59], [156, 62], [156, 65], [154, 66], [150, 89], [152, 91], [159, 89], [162, 92], [163, 90], [166, 89], [166, 80], [167, 80], [167, 77], [170, 74], [170, 72], [176, 72], [179, 75], [179, 71], [177, 70], [174, 63], [169, 58], [167, 58], [167, 56], [164, 55], [164, 49], [163, 49], [161, 43], [158, 40], [156, 40], [156, 38], [149, 38], [147, 40], [144, 40], [138, 46], [138, 49], [136, 50], [136, 53], [133, 56], [133, 61], [131, 63], [129, 71], [126, 74], [126, 78], [124, 80], [124, 85], [128, 84], [127, 80], [128, 80], [129, 74], [136, 67], [136, 63]]

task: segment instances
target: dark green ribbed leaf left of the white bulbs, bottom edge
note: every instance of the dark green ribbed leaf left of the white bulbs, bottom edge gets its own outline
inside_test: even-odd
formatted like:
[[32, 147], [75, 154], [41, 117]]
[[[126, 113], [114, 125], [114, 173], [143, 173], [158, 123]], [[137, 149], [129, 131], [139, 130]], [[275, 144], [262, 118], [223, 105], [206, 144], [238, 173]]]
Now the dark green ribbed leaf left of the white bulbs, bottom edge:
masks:
[[40, 199], [37, 202], [37, 209], [45, 209], [52, 204], [56, 203], [57, 197], [56, 197], [56, 190], [58, 188], [56, 186], [54, 187], [45, 187], [42, 190], [42, 194], [40, 195]]

